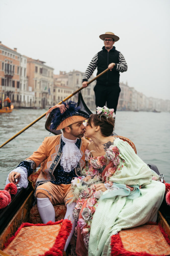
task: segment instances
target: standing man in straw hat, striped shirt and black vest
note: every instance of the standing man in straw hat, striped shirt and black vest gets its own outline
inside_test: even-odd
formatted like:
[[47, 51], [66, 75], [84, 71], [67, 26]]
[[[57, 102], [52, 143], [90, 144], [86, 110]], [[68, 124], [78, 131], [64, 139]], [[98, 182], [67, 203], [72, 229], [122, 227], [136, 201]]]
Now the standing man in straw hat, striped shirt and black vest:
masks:
[[87, 81], [97, 67], [97, 75], [109, 68], [110, 71], [97, 78], [94, 87], [96, 106], [104, 106], [107, 103], [108, 108], [113, 108], [116, 112], [117, 103], [120, 94], [119, 72], [127, 71], [127, 63], [123, 54], [115, 49], [114, 42], [119, 37], [112, 32], [106, 32], [99, 36], [104, 41], [104, 46], [91, 60], [83, 75], [83, 87], [87, 87]]

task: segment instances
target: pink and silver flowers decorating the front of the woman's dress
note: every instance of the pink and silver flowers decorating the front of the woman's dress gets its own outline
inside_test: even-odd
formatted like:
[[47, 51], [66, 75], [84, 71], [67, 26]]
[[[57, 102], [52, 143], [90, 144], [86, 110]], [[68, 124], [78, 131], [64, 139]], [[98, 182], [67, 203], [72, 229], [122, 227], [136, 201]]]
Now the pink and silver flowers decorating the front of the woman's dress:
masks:
[[[109, 178], [125, 165], [125, 161], [120, 158], [119, 149], [114, 145], [111, 145], [105, 156], [91, 157], [91, 152], [89, 150], [85, 151], [85, 160], [87, 162], [86, 167], [83, 169], [83, 174], [90, 175], [93, 179], [100, 183], [101, 173], [99, 173], [99, 168], [104, 168], [109, 162], [112, 162], [112, 167], [108, 168], [104, 174], [104, 183], [107, 189], [112, 188], [113, 182], [109, 181]], [[85, 248], [88, 250], [89, 235], [91, 222], [93, 219], [93, 214], [98, 206], [98, 199], [102, 196], [103, 192], [101, 190], [96, 190], [94, 184], [89, 184], [87, 186], [82, 186], [82, 178], [76, 177], [72, 181], [72, 187], [79, 189], [79, 198], [76, 202], [76, 206], [73, 210], [73, 217], [76, 221], [75, 235], [77, 235], [78, 228], [81, 230], [83, 235], [83, 240]], [[81, 218], [79, 218], [80, 211], [83, 207]]]

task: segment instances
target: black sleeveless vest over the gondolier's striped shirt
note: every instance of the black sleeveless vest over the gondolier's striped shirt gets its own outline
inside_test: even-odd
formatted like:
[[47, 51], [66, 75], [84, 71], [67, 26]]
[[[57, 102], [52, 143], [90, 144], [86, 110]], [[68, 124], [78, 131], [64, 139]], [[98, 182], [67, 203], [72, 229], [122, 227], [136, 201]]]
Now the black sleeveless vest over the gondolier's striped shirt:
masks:
[[[102, 49], [98, 52], [97, 75], [107, 69], [110, 63], [119, 63], [119, 51], [115, 50], [114, 46], [109, 52], [104, 46]], [[97, 78], [97, 84], [119, 85], [119, 77], [119, 71], [112, 69]]]

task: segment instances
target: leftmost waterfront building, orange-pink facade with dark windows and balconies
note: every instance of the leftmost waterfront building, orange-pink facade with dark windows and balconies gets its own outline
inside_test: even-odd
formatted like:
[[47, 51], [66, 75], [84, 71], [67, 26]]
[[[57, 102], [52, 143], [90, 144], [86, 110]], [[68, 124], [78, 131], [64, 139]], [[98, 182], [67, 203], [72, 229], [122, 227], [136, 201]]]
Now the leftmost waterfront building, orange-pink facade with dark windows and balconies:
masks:
[[0, 42], [0, 98], [8, 96], [14, 106], [20, 104], [20, 57], [17, 48]]

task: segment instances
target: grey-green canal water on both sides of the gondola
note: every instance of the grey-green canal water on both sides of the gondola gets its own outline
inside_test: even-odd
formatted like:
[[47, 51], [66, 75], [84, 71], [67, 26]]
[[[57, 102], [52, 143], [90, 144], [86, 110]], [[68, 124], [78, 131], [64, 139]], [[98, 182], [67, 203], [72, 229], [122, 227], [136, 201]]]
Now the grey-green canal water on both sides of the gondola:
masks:
[[[0, 145], [44, 114], [44, 109], [14, 109], [0, 114]], [[8, 173], [41, 145], [47, 136], [45, 117], [0, 148], [0, 189], [5, 187]], [[115, 132], [129, 138], [138, 156], [147, 164], [155, 164], [170, 183], [170, 113], [117, 111]]]

